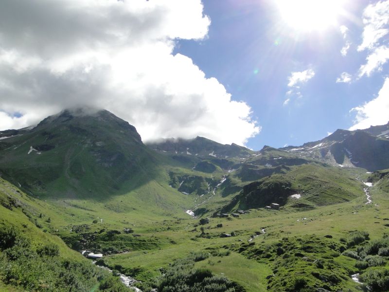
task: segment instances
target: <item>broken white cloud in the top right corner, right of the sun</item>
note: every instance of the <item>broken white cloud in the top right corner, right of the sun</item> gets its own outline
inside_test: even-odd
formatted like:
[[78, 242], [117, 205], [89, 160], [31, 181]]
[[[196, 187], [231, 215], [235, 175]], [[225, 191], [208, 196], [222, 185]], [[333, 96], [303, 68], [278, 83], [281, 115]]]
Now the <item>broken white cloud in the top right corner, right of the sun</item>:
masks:
[[384, 38], [389, 33], [389, 0], [368, 5], [363, 11], [363, 23], [362, 43], [357, 50], [368, 50], [368, 56], [366, 64], [359, 68], [359, 78], [382, 70], [389, 60], [387, 38]]

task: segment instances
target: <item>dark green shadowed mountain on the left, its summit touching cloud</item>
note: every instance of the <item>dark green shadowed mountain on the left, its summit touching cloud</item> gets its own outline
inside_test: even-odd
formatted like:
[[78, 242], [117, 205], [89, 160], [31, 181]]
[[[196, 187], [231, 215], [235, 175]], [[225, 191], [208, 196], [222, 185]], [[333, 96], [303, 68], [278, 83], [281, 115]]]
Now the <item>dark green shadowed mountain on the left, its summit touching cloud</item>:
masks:
[[152, 178], [157, 165], [136, 129], [106, 110], [64, 110], [1, 135], [1, 175], [39, 196], [104, 197]]

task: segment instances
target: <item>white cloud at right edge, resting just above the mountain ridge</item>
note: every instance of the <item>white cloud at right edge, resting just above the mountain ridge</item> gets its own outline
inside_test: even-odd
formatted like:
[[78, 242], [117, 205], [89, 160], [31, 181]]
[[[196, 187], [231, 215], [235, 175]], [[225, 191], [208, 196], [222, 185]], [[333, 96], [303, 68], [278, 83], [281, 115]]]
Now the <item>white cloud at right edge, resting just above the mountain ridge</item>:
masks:
[[389, 121], [389, 78], [385, 79], [376, 98], [351, 111], [356, 112], [356, 117], [354, 126], [350, 130], [387, 124]]

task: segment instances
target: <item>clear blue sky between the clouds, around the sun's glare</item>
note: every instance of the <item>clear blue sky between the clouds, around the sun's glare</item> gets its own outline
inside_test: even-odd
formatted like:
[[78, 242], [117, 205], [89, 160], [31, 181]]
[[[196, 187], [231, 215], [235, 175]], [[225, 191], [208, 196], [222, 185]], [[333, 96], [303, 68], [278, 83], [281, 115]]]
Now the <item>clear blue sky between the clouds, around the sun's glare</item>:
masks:
[[[251, 107], [262, 127], [248, 140], [253, 149], [301, 145], [352, 127], [355, 113], [350, 110], [372, 100], [388, 76], [386, 64], [369, 77], [336, 83], [341, 73], [354, 74], [366, 62], [369, 52], [357, 52], [357, 46], [362, 42], [363, 10], [374, 1], [348, 1], [347, 15], [338, 16], [336, 25], [311, 32], [285, 24], [274, 2], [225, 0], [220, 5], [205, 0], [204, 12], [211, 18], [208, 38], [180, 40], [175, 49], [191, 57], [206, 76], [216, 77], [233, 99]], [[341, 25], [348, 28], [351, 42], [346, 56], [340, 53], [345, 45]], [[307, 69], [315, 75], [301, 85], [302, 96], [288, 96], [288, 77]]]

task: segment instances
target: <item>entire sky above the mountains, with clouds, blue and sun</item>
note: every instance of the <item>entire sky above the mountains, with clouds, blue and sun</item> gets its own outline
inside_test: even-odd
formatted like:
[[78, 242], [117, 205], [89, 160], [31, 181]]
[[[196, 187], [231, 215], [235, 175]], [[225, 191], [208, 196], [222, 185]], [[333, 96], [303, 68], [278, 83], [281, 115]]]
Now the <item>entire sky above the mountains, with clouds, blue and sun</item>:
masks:
[[92, 106], [143, 141], [298, 146], [389, 121], [389, 0], [2, 0], [0, 130]]

